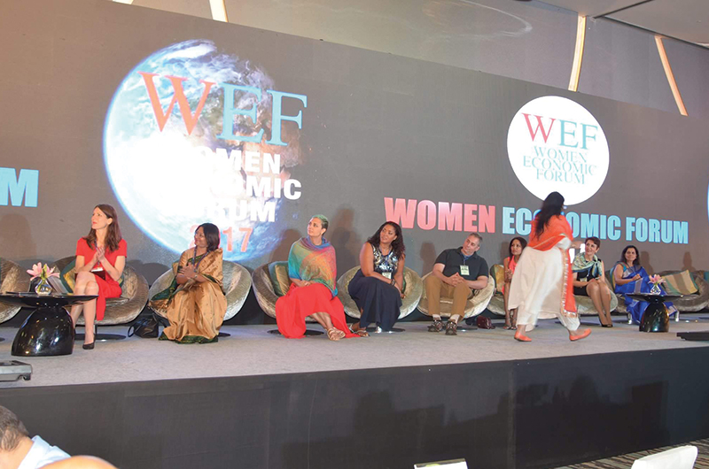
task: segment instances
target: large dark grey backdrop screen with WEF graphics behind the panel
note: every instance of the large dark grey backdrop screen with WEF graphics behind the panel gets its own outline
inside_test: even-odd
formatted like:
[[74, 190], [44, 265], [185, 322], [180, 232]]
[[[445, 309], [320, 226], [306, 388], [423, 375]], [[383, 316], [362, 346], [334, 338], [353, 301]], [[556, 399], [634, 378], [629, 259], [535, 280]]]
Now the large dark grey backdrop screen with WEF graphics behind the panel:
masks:
[[[471, 227], [483, 232], [480, 254], [500, 262], [510, 238], [525, 234], [526, 209], [541, 204], [510, 164], [510, 123], [524, 124], [518, 111], [535, 98], [563, 96], [595, 118], [609, 149], [600, 188], [569, 206], [579, 235], [601, 235], [608, 267], [628, 242], [646, 252], [651, 270], [709, 265], [705, 120], [101, 0], [10, 1], [3, 9], [0, 35], [11, 44], [0, 50], [4, 258], [27, 265], [73, 254], [93, 206], [109, 203], [119, 210], [129, 264], [148, 281], [188, 247], [201, 220], [227, 232], [228, 258], [253, 268], [284, 259], [322, 212], [343, 273], [386, 219], [387, 199], [392, 208], [399, 199], [411, 209], [407, 265], [418, 272]], [[542, 127], [556, 119], [549, 142], [564, 138], [559, 122], [568, 115], [553, 106], [534, 115]], [[580, 132], [584, 122], [566, 129]], [[567, 143], [579, 143], [578, 132]], [[280, 196], [248, 195], [264, 184], [282, 188]], [[441, 217], [446, 210], [450, 219]]]

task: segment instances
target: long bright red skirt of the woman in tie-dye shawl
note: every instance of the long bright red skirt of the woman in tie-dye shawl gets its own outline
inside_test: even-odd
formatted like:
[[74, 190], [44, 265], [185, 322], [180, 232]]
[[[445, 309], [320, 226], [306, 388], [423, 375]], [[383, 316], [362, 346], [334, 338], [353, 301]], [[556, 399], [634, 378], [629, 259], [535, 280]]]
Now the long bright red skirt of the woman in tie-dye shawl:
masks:
[[339, 298], [333, 297], [330, 288], [322, 283], [311, 283], [307, 287], [291, 284], [288, 293], [276, 302], [278, 330], [284, 337], [300, 339], [305, 334], [305, 319], [314, 312], [329, 314], [332, 326], [344, 332], [346, 337], [358, 337], [347, 327], [345, 308]]

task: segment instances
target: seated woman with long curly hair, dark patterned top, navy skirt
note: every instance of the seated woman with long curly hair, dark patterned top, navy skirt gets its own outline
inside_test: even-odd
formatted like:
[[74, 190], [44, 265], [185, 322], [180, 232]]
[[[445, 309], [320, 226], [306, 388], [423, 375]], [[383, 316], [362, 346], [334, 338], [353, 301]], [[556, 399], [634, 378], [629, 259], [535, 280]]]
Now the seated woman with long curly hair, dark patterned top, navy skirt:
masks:
[[367, 326], [374, 323], [391, 331], [399, 319], [404, 281], [404, 241], [401, 227], [387, 221], [379, 227], [360, 250], [360, 270], [349, 282], [349, 295], [362, 311], [352, 332], [367, 335]]

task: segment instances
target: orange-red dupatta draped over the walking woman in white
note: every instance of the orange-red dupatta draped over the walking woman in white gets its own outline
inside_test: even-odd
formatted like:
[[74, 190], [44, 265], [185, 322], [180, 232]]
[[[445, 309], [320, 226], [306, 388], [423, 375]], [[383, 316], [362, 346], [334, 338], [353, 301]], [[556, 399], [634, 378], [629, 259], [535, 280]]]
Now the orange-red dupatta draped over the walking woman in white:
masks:
[[[536, 235], [537, 219], [532, 220], [532, 233], [529, 237], [527, 247], [535, 250], [550, 250], [557, 245], [565, 237], [573, 240], [573, 231], [571, 225], [566, 221], [563, 215], [555, 215], [549, 219], [544, 231], [537, 237]], [[573, 297], [573, 277], [571, 271], [571, 260], [569, 259], [569, 250], [561, 250], [561, 258], [564, 262], [564, 277], [562, 279], [562, 291], [565, 295], [561, 296], [560, 311], [564, 316], [575, 318], [576, 299]]]

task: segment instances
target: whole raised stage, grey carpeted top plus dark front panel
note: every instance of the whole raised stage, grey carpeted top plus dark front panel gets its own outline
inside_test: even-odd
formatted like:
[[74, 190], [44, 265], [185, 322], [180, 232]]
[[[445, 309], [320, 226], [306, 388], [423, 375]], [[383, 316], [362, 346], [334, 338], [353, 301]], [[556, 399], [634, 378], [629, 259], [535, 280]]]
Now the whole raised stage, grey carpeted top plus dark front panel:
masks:
[[[340, 342], [275, 325], [226, 326], [206, 345], [77, 342], [19, 358], [32, 380], [0, 383], [0, 403], [30, 433], [121, 468], [552, 467], [709, 436], [709, 342], [676, 336], [708, 330], [697, 316], [667, 334], [591, 326], [580, 342], [555, 321], [515, 342], [500, 320], [456, 337], [419, 321]], [[2, 359], [15, 332], [0, 327]]]

